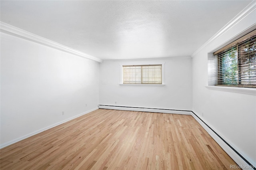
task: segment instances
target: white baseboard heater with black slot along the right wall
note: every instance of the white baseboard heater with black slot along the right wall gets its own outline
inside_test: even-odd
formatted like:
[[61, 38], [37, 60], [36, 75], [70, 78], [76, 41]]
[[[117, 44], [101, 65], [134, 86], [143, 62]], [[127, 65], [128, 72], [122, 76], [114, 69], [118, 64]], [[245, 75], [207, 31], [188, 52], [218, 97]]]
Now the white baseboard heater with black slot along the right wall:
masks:
[[249, 158], [244, 158], [236, 149], [234, 149], [224, 138], [222, 138], [215, 130], [213, 130], [205, 121], [202, 120], [198, 115], [191, 111], [192, 117], [212, 136], [212, 138], [225, 150], [225, 152], [240, 166], [243, 170], [256, 170], [256, 165], [252, 165], [253, 162]]

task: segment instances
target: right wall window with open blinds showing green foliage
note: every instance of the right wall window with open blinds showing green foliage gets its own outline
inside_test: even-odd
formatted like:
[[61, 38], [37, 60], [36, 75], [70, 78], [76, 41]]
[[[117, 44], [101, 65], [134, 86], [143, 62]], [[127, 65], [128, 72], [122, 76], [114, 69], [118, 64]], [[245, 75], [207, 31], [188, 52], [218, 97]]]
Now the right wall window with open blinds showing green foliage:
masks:
[[256, 87], [256, 30], [214, 53], [216, 85]]

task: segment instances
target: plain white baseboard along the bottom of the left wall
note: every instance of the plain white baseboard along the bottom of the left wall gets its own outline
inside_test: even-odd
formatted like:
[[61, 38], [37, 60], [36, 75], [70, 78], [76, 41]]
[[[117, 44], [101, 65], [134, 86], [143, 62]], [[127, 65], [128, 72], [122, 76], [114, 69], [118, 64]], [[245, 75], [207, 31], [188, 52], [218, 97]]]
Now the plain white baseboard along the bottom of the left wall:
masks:
[[42, 128], [42, 129], [37, 130], [37, 131], [35, 131], [35, 132], [26, 134], [26, 135], [24, 135], [24, 136], [21, 136], [21, 137], [19, 137], [19, 138], [16, 138], [16, 139], [14, 139], [14, 140], [9, 141], [9, 142], [3, 143], [3, 144], [0, 145], [0, 148], [4, 148], [4, 147], [9, 146], [9, 145], [11, 145], [11, 144], [14, 144], [14, 143], [16, 143], [16, 142], [19, 142], [20, 140], [26, 139], [26, 138], [28, 138], [28, 137], [30, 137], [30, 136], [33, 136], [33, 135], [38, 134], [38, 133], [40, 133], [40, 132], [43, 132], [44, 130], [48, 130], [48, 129], [50, 129], [50, 128], [56, 127], [56, 126], [58, 126], [58, 125], [61, 125], [62, 123], [71, 121], [72, 119], [76, 119], [77, 117], [80, 117], [80, 116], [82, 116], [82, 115], [85, 115], [85, 114], [87, 114], [87, 113], [90, 113], [90, 112], [92, 112], [92, 111], [95, 111], [95, 110], [97, 110], [97, 109], [98, 109], [98, 108], [91, 109], [90, 111], [86, 111], [86, 112], [84, 112], [84, 113], [80, 113], [79, 115], [76, 115], [76, 116], [74, 116], [74, 117], [68, 118], [68, 119], [66, 119], [66, 120], [64, 120], [64, 121], [60, 121], [60, 122], [55, 123], [55, 124], [53, 124], [53, 125], [50, 125], [50, 126], [48, 126], [48, 127]]

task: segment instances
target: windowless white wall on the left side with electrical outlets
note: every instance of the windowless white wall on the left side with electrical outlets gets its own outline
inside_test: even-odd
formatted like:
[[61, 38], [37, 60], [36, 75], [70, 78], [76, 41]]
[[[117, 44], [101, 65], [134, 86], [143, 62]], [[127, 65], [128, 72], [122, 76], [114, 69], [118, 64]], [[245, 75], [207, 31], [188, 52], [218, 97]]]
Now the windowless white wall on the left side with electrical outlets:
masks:
[[1, 146], [96, 109], [98, 91], [96, 61], [1, 33]]

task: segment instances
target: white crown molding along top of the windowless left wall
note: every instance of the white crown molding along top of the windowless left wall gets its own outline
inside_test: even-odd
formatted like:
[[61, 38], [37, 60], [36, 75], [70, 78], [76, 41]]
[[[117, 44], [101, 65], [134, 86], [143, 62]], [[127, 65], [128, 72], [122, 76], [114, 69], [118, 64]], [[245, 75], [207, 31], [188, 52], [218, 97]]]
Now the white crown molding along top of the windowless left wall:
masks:
[[0, 31], [3, 32], [3, 33], [6, 33], [6, 34], [10, 34], [10, 35], [19, 37], [19, 38], [23, 38], [25, 40], [30, 40], [32, 42], [40, 43], [42, 45], [46, 45], [46, 46], [52, 47], [54, 49], [58, 49], [58, 50], [61, 50], [61, 51], [67, 52], [67, 53], [71, 53], [71, 54], [77, 55], [79, 57], [83, 57], [83, 58], [86, 58], [86, 59], [91, 59], [91, 60], [97, 61], [99, 63], [102, 63], [102, 61], [103, 61], [102, 59], [99, 59], [99, 58], [94, 57], [92, 55], [83, 53], [83, 52], [78, 51], [76, 49], [72, 49], [72, 48], [67, 47], [65, 45], [62, 45], [60, 43], [56, 43], [52, 40], [48, 40], [46, 38], [40, 37], [36, 34], [32, 34], [30, 32], [27, 32], [27, 31], [22, 30], [20, 28], [11, 26], [11, 25], [6, 24], [4, 22], [0, 22]]

